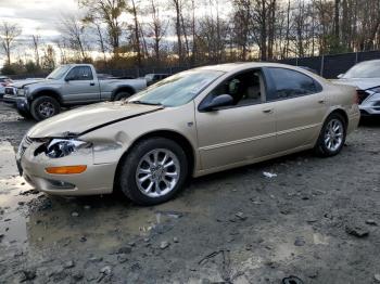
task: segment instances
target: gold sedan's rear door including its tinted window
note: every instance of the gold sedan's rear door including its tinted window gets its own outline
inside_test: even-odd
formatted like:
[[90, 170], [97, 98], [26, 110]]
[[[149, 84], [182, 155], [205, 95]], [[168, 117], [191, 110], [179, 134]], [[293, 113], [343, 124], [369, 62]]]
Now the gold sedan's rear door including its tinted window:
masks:
[[312, 145], [327, 112], [322, 87], [311, 76], [283, 67], [268, 67], [268, 101], [275, 102], [278, 153]]

